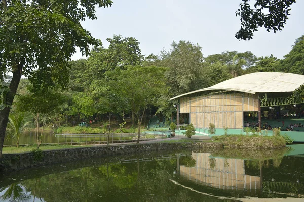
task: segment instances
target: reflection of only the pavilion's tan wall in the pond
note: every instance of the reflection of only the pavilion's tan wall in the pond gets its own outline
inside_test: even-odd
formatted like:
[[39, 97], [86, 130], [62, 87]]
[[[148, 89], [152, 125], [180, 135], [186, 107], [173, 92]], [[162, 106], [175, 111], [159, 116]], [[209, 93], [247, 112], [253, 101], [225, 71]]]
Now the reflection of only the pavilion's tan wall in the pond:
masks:
[[179, 166], [180, 175], [191, 181], [219, 189], [260, 190], [260, 177], [245, 174], [244, 160], [209, 158], [209, 156], [210, 153], [192, 153], [192, 157], [196, 160], [195, 167]]

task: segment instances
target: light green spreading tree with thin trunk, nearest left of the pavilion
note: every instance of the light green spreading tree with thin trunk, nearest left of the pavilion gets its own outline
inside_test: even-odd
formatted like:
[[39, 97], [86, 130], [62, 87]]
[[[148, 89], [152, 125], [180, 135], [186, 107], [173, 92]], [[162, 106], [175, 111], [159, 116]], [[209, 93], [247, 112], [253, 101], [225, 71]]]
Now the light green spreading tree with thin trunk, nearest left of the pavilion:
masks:
[[111, 91], [127, 99], [131, 112], [137, 118], [137, 143], [139, 143], [140, 126], [147, 106], [154, 104], [165, 89], [165, 71], [165, 68], [155, 66], [128, 66], [126, 70], [117, 67], [115, 71], [107, 73], [111, 78], [109, 81]]

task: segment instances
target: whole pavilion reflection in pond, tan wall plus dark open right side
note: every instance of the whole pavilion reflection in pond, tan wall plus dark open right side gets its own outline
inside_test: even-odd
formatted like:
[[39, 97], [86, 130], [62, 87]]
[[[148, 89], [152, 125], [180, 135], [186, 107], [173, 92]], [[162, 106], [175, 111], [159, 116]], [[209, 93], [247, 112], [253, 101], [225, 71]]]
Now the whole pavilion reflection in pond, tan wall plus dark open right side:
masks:
[[[223, 194], [219, 190], [224, 190], [230, 196], [240, 198], [304, 198], [304, 165], [296, 163], [303, 161], [303, 157], [284, 157], [283, 150], [274, 151], [273, 159], [265, 158], [267, 154], [259, 154], [259, 159], [214, 157], [215, 154], [226, 156], [223, 154], [236, 152], [232, 150], [212, 154], [192, 152], [191, 156], [196, 164], [191, 167], [179, 166], [178, 171], [183, 178], [181, 183], [203, 192], [207, 192], [206, 187], [212, 187], [212, 191], [218, 196]], [[289, 152], [286, 149], [284, 151], [285, 154], [286, 151]]]

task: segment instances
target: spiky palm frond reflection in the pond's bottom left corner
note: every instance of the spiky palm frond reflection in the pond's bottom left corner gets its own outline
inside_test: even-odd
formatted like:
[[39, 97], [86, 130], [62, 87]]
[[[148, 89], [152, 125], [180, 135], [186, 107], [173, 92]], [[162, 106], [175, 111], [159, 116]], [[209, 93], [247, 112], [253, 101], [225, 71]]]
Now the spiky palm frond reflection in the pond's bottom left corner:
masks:
[[[7, 187], [1, 188], [0, 192], [4, 191], [6, 188]], [[24, 193], [24, 190], [19, 183], [11, 184], [6, 192], [0, 196], [1, 200], [9, 200], [9, 202], [24, 201], [28, 198], [30, 198], [30, 196]]]

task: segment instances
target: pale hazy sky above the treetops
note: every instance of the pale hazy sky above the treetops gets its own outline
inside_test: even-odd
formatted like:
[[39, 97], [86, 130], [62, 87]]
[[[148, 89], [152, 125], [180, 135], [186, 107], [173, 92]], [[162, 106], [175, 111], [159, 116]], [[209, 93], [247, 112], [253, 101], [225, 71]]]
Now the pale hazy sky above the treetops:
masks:
[[[253, 40], [235, 38], [240, 18], [235, 16], [241, 0], [112, 0], [109, 8], [97, 8], [97, 20], [82, 22], [93, 37], [108, 47], [106, 38], [113, 35], [134, 37], [140, 42], [141, 53], [159, 54], [175, 41], [198, 43], [203, 56], [224, 51], [251, 51], [257, 57], [283, 59], [295, 40], [304, 34], [304, 0], [291, 6], [290, 16], [282, 31], [254, 32]], [[254, 0], [250, 2], [254, 3]], [[85, 58], [78, 51], [73, 60]]]

